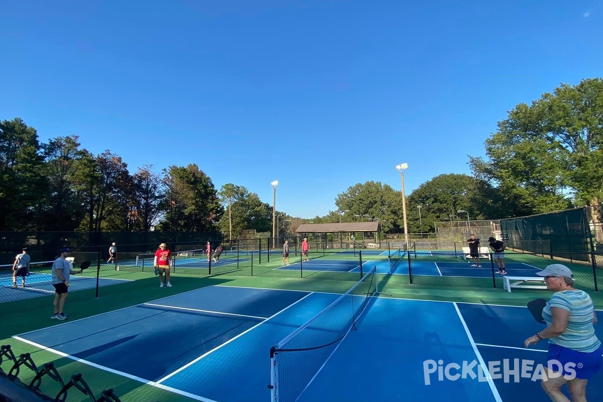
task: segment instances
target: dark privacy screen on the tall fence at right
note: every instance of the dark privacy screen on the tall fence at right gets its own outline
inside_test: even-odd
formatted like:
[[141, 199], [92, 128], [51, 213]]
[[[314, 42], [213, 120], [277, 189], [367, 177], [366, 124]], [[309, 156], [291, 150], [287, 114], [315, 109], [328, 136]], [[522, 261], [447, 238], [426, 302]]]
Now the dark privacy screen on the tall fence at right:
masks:
[[590, 227], [584, 208], [501, 219], [500, 230], [507, 248], [590, 260]]

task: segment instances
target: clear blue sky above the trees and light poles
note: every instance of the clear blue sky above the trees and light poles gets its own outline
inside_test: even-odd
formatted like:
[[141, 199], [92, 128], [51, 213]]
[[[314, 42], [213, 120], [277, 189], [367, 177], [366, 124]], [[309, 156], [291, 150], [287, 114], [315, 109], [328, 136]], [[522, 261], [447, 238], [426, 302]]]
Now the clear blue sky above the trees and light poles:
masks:
[[77, 134], [132, 173], [197, 163], [313, 218], [368, 180], [406, 192], [519, 102], [603, 71], [601, 1], [0, 3], [0, 119]]

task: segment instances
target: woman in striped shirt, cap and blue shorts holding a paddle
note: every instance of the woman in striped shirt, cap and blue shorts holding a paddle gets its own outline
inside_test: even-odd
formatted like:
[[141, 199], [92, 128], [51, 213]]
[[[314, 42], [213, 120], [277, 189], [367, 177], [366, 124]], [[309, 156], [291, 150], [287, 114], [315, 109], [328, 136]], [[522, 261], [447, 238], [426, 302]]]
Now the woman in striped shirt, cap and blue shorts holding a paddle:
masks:
[[546, 375], [542, 388], [554, 402], [569, 401], [561, 392], [567, 384], [572, 401], [586, 402], [586, 385], [601, 369], [601, 342], [595, 335], [595, 305], [590, 296], [574, 289], [572, 271], [552, 264], [536, 275], [545, 277], [546, 288], [555, 291], [542, 310], [545, 330], [525, 340], [525, 347], [549, 340]]

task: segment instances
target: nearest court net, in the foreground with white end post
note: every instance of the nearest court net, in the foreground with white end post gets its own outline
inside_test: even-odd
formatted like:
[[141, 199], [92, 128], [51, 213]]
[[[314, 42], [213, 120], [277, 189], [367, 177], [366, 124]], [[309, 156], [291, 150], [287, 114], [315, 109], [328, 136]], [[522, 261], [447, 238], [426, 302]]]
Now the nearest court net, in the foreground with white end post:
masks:
[[312, 382], [377, 293], [376, 268], [270, 349], [271, 400], [292, 402]]

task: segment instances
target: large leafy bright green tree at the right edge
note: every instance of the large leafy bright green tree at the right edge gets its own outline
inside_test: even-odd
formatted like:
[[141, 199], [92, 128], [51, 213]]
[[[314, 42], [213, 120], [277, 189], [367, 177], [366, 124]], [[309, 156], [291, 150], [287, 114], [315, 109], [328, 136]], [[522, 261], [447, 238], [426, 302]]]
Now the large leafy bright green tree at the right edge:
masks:
[[486, 140], [487, 160], [470, 165], [523, 206], [514, 216], [551, 212], [601, 204], [602, 144], [603, 80], [594, 78], [517, 105]]

